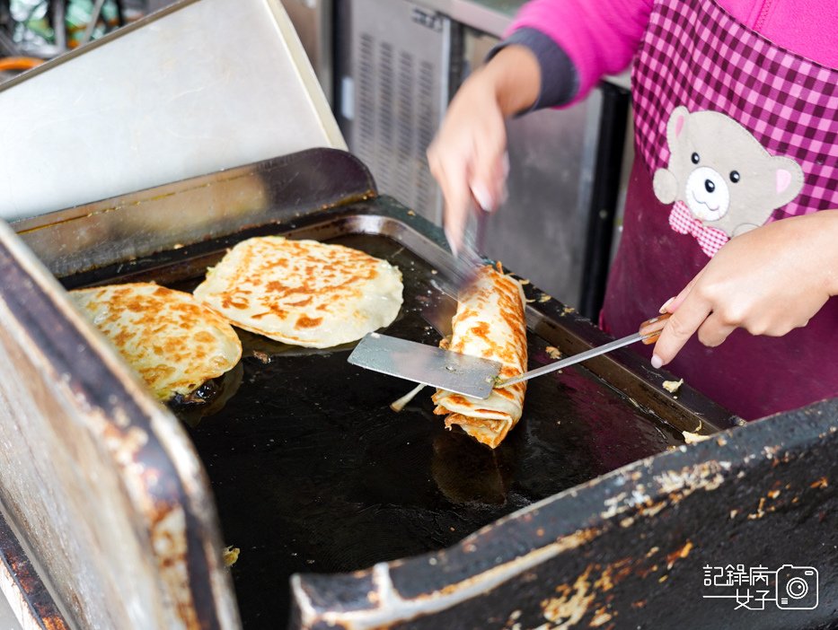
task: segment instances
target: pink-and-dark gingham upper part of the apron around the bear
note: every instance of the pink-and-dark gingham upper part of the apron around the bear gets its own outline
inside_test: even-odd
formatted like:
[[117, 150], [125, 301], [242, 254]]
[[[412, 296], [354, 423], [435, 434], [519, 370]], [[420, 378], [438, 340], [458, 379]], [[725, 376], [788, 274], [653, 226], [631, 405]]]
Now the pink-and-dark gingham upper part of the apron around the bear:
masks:
[[632, 82], [637, 149], [649, 172], [669, 161], [673, 109], [710, 109], [803, 169], [800, 194], [772, 219], [838, 208], [838, 70], [775, 46], [715, 2], [664, 0], [652, 9]]

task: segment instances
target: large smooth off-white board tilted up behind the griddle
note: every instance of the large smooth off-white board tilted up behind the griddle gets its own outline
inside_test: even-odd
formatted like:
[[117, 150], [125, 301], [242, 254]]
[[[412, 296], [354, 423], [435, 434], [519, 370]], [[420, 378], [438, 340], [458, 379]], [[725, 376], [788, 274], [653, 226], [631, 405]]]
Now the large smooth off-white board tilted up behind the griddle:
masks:
[[0, 218], [345, 149], [278, 0], [185, 0], [0, 87]]

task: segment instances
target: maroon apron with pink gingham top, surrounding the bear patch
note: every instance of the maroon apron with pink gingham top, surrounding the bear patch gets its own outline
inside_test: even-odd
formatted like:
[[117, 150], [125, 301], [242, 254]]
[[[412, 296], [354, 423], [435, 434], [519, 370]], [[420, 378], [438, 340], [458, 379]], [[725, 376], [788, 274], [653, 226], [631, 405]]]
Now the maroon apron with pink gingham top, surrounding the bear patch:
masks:
[[[652, 175], [669, 161], [666, 123], [677, 106], [719, 111], [772, 155], [798, 162], [803, 188], [770, 220], [838, 208], [838, 70], [774, 46], [711, 0], [661, 0], [632, 84], [637, 158], [602, 314], [616, 337], [655, 314], [724, 244], [722, 232], [720, 244], [702, 249], [714, 235], [698, 233], [689, 210], [662, 204], [653, 192]], [[785, 337], [737, 330], [717, 348], [693, 337], [669, 369], [751, 420], [838, 396], [836, 350], [833, 298]]]

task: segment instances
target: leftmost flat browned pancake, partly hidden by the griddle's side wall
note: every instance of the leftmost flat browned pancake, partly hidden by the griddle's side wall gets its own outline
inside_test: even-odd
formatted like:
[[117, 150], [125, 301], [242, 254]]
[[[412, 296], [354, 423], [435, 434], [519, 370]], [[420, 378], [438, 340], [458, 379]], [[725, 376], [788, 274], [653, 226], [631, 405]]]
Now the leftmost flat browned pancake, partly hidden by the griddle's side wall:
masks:
[[242, 357], [233, 327], [190, 293], [128, 283], [70, 297], [160, 400], [190, 394]]

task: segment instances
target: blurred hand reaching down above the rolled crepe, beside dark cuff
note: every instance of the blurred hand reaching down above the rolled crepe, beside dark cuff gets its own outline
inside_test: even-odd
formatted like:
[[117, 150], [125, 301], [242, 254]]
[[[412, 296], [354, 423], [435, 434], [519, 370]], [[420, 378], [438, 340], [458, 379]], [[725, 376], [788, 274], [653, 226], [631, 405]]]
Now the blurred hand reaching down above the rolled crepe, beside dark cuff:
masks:
[[527, 109], [541, 90], [541, 69], [522, 46], [501, 49], [454, 96], [428, 164], [445, 198], [445, 236], [456, 253], [472, 198], [487, 211], [503, 200], [508, 172], [506, 118]]

